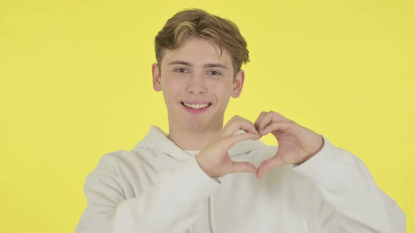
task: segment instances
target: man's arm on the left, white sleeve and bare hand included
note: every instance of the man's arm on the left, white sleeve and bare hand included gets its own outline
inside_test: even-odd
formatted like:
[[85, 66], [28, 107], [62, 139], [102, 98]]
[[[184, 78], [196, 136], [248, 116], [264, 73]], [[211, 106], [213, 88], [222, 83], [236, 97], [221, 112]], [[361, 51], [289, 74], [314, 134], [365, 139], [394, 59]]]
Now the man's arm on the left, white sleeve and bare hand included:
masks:
[[[250, 133], [234, 135], [244, 129]], [[153, 187], [126, 199], [117, 175], [115, 157], [108, 155], [85, 182], [87, 210], [76, 233], [186, 232], [200, 213], [201, 204], [219, 184], [212, 178], [235, 172], [256, 173], [248, 162], [234, 162], [228, 149], [260, 135], [252, 123], [234, 117], [196, 157], [167, 173], [160, 173]], [[146, 174], [143, 174], [146, 175]], [[148, 175], [148, 174], [147, 174]]]

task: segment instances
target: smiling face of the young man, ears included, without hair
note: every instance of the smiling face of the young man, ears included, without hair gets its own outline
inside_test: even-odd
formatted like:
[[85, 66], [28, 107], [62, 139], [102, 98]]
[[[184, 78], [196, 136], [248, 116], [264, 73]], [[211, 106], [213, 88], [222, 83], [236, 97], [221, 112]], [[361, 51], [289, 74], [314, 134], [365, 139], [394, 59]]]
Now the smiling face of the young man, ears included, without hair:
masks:
[[153, 65], [153, 88], [163, 92], [170, 128], [193, 132], [222, 128], [229, 98], [240, 95], [243, 79], [243, 71], [234, 79], [228, 51], [221, 55], [217, 44], [194, 36], [166, 50], [160, 67]]

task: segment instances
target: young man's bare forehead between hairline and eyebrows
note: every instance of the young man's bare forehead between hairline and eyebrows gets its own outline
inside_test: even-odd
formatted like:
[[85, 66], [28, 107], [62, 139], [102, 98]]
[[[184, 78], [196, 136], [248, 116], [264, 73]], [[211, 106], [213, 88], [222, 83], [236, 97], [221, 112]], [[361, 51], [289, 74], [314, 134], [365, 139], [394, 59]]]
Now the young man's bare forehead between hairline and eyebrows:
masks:
[[172, 60], [183, 60], [193, 65], [220, 62], [230, 66], [232, 63], [231, 55], [226, 49], [222, 48], [221, 51], [214, 41], [195, 36], [186, 39], [179, 48], [164, 51], [162, 64]]

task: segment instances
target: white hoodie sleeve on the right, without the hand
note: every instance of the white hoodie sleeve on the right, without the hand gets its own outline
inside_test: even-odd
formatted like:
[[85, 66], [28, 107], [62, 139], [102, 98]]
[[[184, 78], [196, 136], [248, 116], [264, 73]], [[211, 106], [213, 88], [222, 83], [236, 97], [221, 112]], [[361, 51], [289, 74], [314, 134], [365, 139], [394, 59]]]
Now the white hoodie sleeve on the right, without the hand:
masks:
[[318, 154], [293, 168], [307, 180], [302, 182], [302, 208], [309, 232], [406, 232], [405, 214], [363, 162], [324, 141]]

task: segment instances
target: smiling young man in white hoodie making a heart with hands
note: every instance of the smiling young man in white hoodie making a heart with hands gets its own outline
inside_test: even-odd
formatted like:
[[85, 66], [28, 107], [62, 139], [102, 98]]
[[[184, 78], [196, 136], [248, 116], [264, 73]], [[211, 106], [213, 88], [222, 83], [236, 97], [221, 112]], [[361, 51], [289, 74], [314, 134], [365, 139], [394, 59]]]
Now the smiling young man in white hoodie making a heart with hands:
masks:
[[[236, 25], [181, 11], [155, 52], [169, 133], [153, 126], [131, 152], [101, 159], [75, 232], [405, 232], [362, 161], [321, 135], [276, 112], [223, 125], [249, 60]], [[258, 140], [268, 133], [278, 150]]]

